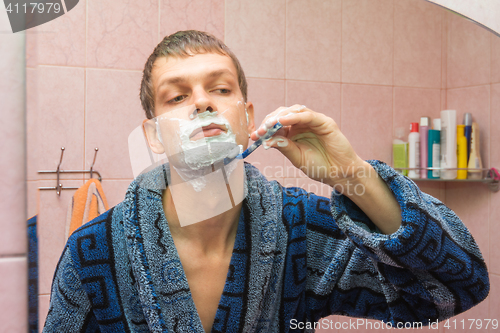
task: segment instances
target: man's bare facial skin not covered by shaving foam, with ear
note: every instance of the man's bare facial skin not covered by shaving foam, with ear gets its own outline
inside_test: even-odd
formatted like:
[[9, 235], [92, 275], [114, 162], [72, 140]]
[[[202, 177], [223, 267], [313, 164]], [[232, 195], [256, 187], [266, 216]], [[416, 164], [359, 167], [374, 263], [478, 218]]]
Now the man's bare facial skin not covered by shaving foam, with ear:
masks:
[[[217, 111], [218, 116], [229, 122], [236, 143], [247, 148], [248, 134], [255, 130], [253, 106], [250, 102], [243, 104], [238, 75], [230, 57], [204, 53], [186, 58], [158, 58], [153, 66], [152, 81], [156, 117], [190, 105], [198, 114]], [[227, 131], [226, 126], [205, 126], [193, 133], [191, 140]]]

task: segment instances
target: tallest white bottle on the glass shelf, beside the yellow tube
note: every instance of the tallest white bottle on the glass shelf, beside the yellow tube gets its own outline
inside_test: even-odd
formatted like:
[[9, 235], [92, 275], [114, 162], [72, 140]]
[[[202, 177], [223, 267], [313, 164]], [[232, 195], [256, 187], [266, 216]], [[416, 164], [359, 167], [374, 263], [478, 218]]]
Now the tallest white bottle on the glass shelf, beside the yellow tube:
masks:
[[[441, 179], [457, 178], [457, 111], [441, 111]], [[447, 170], [448, 169], [448, 170]]]

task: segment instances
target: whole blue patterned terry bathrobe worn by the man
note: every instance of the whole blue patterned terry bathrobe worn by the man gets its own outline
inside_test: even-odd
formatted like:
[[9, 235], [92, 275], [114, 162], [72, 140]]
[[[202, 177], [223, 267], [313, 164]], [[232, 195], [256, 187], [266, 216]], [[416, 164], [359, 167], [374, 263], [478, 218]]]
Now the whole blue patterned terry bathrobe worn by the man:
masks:
[[[290, 323], [330, 314], [428, 323], [489, 291], [474, 239], [439, 200], [370, 161], [396, 196], [391, 235], [348, 198], [268, 182], [246, 165], [248, 195], [212, 332], [312, 332]], [[159, 172], [158, 174], [161, 174]], [[68, 240], [44, 332], [203, 332], [162, 209], [137, 186]]]

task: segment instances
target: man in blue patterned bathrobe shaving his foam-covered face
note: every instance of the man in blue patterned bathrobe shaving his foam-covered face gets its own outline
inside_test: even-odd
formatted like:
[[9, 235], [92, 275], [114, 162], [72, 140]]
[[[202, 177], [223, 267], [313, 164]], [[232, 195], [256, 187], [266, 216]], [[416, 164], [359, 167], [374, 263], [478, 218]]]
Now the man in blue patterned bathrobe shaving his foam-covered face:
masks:
[[[244, 108], [230, 107], [240, 100]], [[456, 215], [384, 163], [362, 161], [332, 119], [296, 105], [256, 130], [241, 66], [215, 37], [165, 37], [141, 101], [150, 119], [187, 105], [227, 110], [230, 126], [205, 126], [205, 137], [245, 116], [235, 136], [243, 148], [279, 121], [265, 146], [337, 191], [330, 200], [282, 188], [245, 165], [242, 203], [181, 227], [170, 188], [136, 181], [68, 240], [44, 331], [313, 331], [330, 314], [425, 325], [487, 296], [486, 266]]]

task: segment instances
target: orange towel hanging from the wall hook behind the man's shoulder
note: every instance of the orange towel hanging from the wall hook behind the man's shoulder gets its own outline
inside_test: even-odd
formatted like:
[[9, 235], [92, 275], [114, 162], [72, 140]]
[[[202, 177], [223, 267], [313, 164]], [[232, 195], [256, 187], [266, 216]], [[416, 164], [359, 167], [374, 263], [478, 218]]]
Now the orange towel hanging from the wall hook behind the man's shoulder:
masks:
[[69, 204], [66, 237], [108, 209], [101, 183], [97, 179], [89, 179], [85, 185], [76, 190]]

